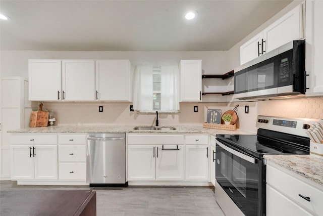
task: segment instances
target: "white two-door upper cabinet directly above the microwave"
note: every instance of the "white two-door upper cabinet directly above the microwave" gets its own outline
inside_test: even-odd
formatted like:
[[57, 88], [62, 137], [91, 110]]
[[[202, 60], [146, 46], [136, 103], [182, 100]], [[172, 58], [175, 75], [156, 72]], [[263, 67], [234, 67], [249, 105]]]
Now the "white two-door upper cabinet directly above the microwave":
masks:
[[247, 63], [292, 40], [303, 38], [302, 4], [286, 13], [240, 47], [240, 64]]

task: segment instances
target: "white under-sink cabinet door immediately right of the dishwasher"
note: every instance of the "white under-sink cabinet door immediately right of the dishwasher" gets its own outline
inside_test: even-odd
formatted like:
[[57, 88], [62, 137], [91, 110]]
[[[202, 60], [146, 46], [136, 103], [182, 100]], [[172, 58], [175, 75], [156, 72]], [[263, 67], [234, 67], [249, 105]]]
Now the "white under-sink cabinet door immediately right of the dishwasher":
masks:
[[128, 181], [155, 180], [155, 146], [128, 146]]

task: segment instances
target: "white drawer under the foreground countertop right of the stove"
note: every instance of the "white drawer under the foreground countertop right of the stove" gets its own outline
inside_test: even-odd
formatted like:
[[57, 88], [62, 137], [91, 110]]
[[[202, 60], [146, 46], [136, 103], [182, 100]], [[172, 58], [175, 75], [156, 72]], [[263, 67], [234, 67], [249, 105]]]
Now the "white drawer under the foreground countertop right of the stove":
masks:
[[[292, 199], [299, 205], [315, 213], [323, 212], [322, 197], [323, 191], [320, 191], [305, 182], [286, 174], [284, 171], [273, 166], [267, 165], [267, 185], [280, 191], [280, 193]], [[309, 197], [306, 201], [299, 194]]]

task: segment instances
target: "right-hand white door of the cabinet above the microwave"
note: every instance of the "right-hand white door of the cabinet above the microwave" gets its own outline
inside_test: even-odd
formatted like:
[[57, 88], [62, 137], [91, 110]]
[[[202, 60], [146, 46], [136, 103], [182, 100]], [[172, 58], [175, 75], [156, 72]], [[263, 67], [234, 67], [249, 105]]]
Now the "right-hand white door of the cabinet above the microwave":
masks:
[[263, 30], [266, 52], [303, 38], [302, 4]]

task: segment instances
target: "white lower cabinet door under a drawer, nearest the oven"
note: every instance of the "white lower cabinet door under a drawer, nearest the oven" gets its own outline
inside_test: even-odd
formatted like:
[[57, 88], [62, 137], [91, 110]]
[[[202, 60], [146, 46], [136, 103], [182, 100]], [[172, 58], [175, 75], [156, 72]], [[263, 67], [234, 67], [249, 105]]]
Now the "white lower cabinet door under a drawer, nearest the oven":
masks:
[[208, 181], [208, 148], [205, 145], [185, 146], [185, 180]]

